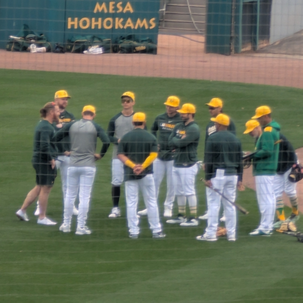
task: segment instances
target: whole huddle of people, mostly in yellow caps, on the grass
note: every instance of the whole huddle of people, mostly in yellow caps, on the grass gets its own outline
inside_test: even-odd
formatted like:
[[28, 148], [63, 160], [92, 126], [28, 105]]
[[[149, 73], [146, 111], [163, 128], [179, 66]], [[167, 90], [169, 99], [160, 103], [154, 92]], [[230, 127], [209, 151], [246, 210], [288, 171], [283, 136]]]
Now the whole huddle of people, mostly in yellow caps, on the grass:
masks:
[[[54, 102], [48, 102], [41, 110], [41, 120], [35, 128], [32, 164], [36, 171], [36, 186], [28, 193], [17, 217], [29, 221], [26, 210], [37, 201], [35, 215], [38, 224], [55, 225], [46, 217], [48, 197], [60, 169], [63, 192], [63, 223], [59, 230], [71, 231], [71, 220], [77, 215], [76, 234], [90, 234], [86, 226], [91, 191], [96, 174], [96, 161], [103, 158], [113, 143], [112, 202], [109, 218], [121, 216], [119, 200], [121, 185], [125, 183], [126, 215], [129, 237], [139, 236], [139, 219], [147, 215], [154, 238], [163, 238], [159, 218], [158, 196], [166, 174], [166, 199], [164, 217], [167, 224], [197, 226], [196, 176], [200, 167], [205, 170], [207, 212], [199, 217], [207, 219], [205, 233], [197, 240], [217, 241], [219, 213], [223, 205], [223, 217], [227, 240], [236, 240], [236, 189], [244, 190], [243, 151], [235, 136], [233, 121], [222, 113], [223, 101], [213, 98], [206, 103], [211, 121], [206, 127], [204, 161], [199, 161], [197, 147], [200, 129], [194, 121], [196, 107], [169, 96], [164, 102], [166, 111], [156, 117], [151, 133], [146, 129], [146, 115], [134, 111], [135, 94], [125, 92], [121, 96], [122, 111], [109, 122], [107, 132], [94, 122], [96, 109], [85, 105], [82, 119], [67, 112], [71, 97], [66, 91], [55, 93]], [[288, 180], [289, 171], [297, 162], [289, 141], [280, 134], [279, 125], [272, 120], [271, 109], [261, 106], [255, 116], [246, 123], [244, 134], [256, 140], [255, 152], [249, 154], [256, 181], [256, 194], [261, 212], [261, 222], [250, 235], [269, 236], [286, 218], [282, 194], [290, 198], [292, 214], [289, 220], [298, 218], [298, 201], [295, 183]], [[97, 137], [103, 145], [96, 153]], [[145, 209], [137, 211], [139, 189]], [[79, 197], [78, 209], [75, 201]], [[172, 217], [177, 198], [178, 215]], [[189, 215], [186, 215], [186, 201]], [[230, 203], [232, 202], [232, 203]], [[274, 213], [277, 222], [274, 224]]]

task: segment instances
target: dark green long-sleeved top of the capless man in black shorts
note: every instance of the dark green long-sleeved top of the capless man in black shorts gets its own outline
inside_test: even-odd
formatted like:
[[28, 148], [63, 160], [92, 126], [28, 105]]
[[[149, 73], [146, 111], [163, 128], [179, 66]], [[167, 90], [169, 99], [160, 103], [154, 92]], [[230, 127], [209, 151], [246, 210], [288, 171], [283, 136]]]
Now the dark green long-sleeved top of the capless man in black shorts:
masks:
[[32, 163], [49, 163], [56, 158], [57, 150], [52, 141], [54, 133], [55, 128], [49, 121], [39, 121], [35, 128]]

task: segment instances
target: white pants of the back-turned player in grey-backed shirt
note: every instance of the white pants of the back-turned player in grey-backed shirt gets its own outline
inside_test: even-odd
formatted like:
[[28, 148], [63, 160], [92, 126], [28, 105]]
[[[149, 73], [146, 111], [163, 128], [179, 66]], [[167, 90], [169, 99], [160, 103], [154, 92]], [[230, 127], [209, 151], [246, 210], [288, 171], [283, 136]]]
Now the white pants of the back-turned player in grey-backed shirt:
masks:
[[69, 167], [67, 195], [64, 200], [64, 224], [71, 224], [73, 207], [79, 191], [78, 227], [84, 227], [88, 216], [95, 174], [96, 167]]

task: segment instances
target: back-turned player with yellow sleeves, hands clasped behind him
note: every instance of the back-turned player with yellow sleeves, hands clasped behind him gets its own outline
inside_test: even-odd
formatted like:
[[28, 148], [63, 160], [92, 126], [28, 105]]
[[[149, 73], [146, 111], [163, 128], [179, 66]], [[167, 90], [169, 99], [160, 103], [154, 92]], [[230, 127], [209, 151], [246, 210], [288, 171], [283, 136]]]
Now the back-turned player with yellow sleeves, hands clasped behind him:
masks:
[[159, 221], [159, 210], [153, 178], [153, 162], [157, 158], [157, 140], [145, 129], [146, 116], [136, 113], [133, 116], [134, 130], [124, 135], [118, 145], [118, 158], [124, 164], [126, 212], [129, 237], [137, 239], [139, 219], [137, 205], [139, 188], [142, 192], [147, 218], [154, 238], [165, 234]]

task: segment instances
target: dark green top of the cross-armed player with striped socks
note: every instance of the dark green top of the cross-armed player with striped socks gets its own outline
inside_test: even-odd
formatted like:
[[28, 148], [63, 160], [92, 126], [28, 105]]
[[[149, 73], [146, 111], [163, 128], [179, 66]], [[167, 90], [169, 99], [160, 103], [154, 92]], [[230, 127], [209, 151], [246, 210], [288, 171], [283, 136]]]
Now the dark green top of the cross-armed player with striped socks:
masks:
[[[185, 135], [184, 138], [182, 138]], [[200, 139], [200, 128], [194, 121], [185, 125], [178, 123], [172, 130], [168, 145], [174, 150], [174, 166], [189, 167], [198, 161], [197, 147]]]

